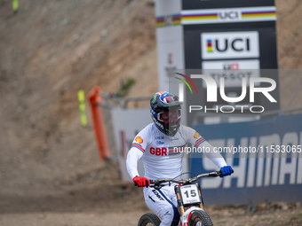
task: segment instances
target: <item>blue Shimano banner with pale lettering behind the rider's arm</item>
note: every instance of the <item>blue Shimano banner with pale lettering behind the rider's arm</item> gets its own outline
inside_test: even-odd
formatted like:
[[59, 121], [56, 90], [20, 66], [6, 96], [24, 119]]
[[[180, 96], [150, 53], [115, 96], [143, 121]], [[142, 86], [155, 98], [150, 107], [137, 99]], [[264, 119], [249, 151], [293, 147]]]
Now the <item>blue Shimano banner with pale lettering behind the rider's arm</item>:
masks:
[[[195, 130], [220, 152], [234, 174], [202, 179], [208, 204], [250, 204], [302, 200], [302, 114], [259, 121], [196, 125]], [[217, 170], [202, 153], [192, 152], [190, 172]]]

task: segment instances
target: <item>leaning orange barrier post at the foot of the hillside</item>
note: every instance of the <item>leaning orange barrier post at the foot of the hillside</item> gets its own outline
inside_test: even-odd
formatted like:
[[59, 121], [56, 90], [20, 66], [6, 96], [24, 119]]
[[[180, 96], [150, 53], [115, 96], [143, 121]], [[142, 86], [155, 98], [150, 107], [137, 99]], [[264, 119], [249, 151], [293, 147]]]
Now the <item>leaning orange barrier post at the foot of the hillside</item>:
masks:
[[88, 94], [88, 98], [91, 103], [91, 113], [92, 113], [94, 131], [99, 146], [99, 158], [105, 160], [111, 157], [111, 152], [109, 150], [107, 132], [106, 132], [104, 117], [100, 105], [101, 102], [100, 88], [94, 87]]

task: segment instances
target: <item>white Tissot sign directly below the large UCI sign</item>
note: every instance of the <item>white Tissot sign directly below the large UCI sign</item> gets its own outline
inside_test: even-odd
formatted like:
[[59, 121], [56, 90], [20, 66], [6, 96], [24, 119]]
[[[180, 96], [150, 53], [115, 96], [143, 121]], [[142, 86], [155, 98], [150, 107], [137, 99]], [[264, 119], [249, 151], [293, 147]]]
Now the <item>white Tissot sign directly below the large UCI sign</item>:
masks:
[[[225, 79], [225, 87], [242, 87], [243, 77], [248, 78], [247, 85], [250, 86], [250, 77], [260, 77], [258, 59], [203, 61], [202, 68], [203, 74], [211, 75], [218, 87], [220, 77]], [[259, 82], [255, 85], [259, 85]], [[206, 88], [204, 81], [203, 88]]]

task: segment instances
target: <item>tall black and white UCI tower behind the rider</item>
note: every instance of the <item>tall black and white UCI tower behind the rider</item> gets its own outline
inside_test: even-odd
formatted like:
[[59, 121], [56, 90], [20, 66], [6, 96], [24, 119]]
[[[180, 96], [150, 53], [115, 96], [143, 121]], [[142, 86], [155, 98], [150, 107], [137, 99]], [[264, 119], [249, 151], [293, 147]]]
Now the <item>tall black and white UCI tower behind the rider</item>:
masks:
[[[221, 78], [225, 79], [227, 97], [241, 97], [242, 78], [271, 78], [278, 84], [278, 74], [271, 74], [277, 73], [278, 68], [274, 0], [156, 0], [155, 17], [159, 90], [179, 93], [173, 91], [175, 73], [191, 79], [188, 70], [210, 75], [217, 87]], [[188, 81], [179, 76], [178, 79]], [[198, 105], [203, 109], [205, 105], [215, 108], [227, 104], [221, 98], [213, 105], [208, 103], [204, 82], [197, 90], [195, 97], [198, 96]], [[190, 91], [184, 90], [184, 108], [194, 105], [191, 103], [194, 90], [191, 94]], [[245, 96], [248, 97], [242, 95]], [[274, 97], [277, 104], [266, 103], [264, 96], [258, 96], [253, 105], [265, 103], [266, 111], [278, 110], [278, 86]], [[248, 104], [247, 98], [240, 104]], [[182, 123], [192, 127], [195, 113], [184, 112]]]

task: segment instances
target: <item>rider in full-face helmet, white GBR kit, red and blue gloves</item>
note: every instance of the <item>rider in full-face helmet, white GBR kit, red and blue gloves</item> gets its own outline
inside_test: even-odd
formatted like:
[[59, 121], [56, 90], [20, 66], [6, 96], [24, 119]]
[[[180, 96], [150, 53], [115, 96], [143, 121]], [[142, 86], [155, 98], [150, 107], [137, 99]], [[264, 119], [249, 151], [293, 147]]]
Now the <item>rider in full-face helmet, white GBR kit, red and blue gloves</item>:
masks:
[[[187, 143], [196, 148], [210, 148], [213, 151], [211, 144], [206, 142], [195, 129], [180, 124], [180, 105], [179, 97], [174, 94], [167, 91], [155, 93], [150, 100], [150, 113], [154, 123], [147, 125], [135, 136], [126, 160], [131, 179], [139, 187], [144, 187], [147, 207], [163, 219], [161, 226], [179, 225], [174, 186], [164, 186], [160, 190], [155, 190], [148, 187], [150, 184], [148, 179], [180, 179], [184, 152], [179, 151]], [[227, 166], [220, 153], [204, 153], [221, 168], [222, 176], [231, 175], [232, 168]], [[144, 177], [139, 176], [137, 169], [140, 158], [145, 167]]]

